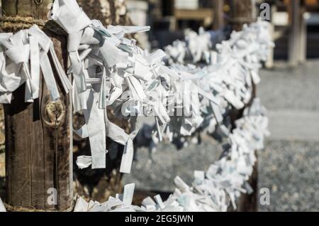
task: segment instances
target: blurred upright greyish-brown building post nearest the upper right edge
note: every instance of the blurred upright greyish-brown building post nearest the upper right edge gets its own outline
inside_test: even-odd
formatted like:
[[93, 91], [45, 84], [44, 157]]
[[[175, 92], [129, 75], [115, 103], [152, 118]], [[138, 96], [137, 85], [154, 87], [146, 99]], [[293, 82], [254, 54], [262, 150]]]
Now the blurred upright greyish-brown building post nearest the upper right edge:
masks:
[[300, 58], [300, 40], [301, 40], [301, 1], [293, 0], [289, 4], [290, 17], [290, 36], [289, 36], [289, 65], [292, 67], [298, 65]]

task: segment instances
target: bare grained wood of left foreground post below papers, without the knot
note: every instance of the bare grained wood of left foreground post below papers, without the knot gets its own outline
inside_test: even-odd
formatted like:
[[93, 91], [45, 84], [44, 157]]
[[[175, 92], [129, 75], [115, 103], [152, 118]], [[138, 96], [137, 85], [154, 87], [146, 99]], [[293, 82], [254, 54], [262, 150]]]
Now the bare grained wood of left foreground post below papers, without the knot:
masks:
[[[66, 46], [56, 38], [52, 40], [58, 57], [66, 60], [66, 53], [61, 51], [66, 50]], [[40, 210], [66, 210], [73, 198], [69, 97], [60, 92], [66, 117], [57, 129], [52, 128], [43, 117], [51, 99], [44, 80], [41, 83], [40, 97], [33, 104], [24, 102], [23, 85], [13, 93], [11, 104], [5, 105], [8, 203]], [[47, 203], [49, 188], [57, 189], [57, 206]]]

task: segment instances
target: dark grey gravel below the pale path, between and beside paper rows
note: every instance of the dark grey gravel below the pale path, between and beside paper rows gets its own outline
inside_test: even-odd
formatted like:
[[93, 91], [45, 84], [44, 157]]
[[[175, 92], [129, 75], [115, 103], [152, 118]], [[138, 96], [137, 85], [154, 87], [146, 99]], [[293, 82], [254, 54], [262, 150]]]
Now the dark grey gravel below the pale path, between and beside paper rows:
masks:
[[[190, 184], [193, 171], [206, 170], [219, 153], [220, 146], [208, 140], [182, 151], [160, 144], [153, 163], [147, 163], [147, 150], [140, 149], [123, 183], [136, 183], [137, 190], [170, 192], [176, 176]], [[259, 211], [319, 211], [318, 153], [318, 142], [266, 141], [266, 149], [258, 152], [258, 187], [269, 188], [270, 205], [259, 204]]]

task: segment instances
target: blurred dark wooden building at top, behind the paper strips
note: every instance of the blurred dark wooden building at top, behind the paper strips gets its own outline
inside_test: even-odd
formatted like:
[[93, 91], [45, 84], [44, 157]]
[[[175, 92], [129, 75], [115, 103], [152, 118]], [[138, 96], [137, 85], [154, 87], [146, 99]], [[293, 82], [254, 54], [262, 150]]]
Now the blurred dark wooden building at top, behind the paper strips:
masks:
[[[317, 0], [252, 0], [249, 3], [245, 0], [126, 0], [132, 22], [152, 27], [149, 33], [142, 34], [145, 39], [139, 39], [144, 48], [164, 48], [177, 39], [184, 40], [184, 33], [189, 29], [198, 31], [198, 28], [203, 27], [208, 31], [216, 31], [235, 26], [240, 30], [242, 23], [249, 23], [255, 15], [258, 16], [263, 3], [270, 6], [270, 21], [274, 26], [273, 37], [276, 43], [275, 59], [288, 60], [289, 40], [296, 34], [306, 35], [301, 37], [307, 43], [302, 46], [306, 50], [306, 57], [319, 57]], [[295, 4], [298, 9], [293, 7]], [[296, 29], [301, 33], [296, 32]]]

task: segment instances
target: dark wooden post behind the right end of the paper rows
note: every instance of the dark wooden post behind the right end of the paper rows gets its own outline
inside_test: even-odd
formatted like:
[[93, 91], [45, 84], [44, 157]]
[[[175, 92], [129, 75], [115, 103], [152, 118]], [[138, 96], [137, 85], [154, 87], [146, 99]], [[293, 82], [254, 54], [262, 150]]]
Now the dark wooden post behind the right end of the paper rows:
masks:
[[[233, 0], [232, 1], [232, 22], [235, 31], [241, 31], [245, 23], [253, 23], [257, 20], [255, 0]], [[256, 97], [256, 86], [252, 90], [252, 99]], [[237, 117], [240, 117], [238, 112]], [[258, 161], [255, 163], [254, 171], [248, 181], [254, 190], [251, 194], [242, 194], [239, 200], [238, 210], [241, 212], [257, 211], [258, 199]]]

